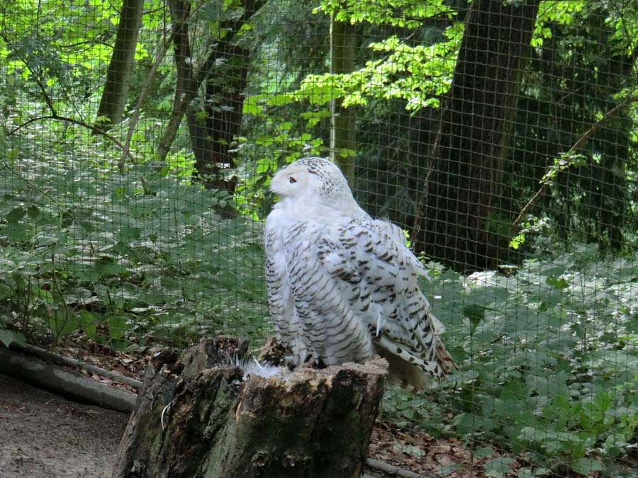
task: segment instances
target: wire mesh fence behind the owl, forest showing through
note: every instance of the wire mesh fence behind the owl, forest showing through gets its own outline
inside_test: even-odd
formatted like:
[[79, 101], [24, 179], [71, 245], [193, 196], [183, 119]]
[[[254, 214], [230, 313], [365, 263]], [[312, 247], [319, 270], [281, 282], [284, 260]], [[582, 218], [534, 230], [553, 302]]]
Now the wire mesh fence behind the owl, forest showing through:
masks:
[[0, 6], [3, 343], [257, 346], [270, 178], [330, 157], [405, 230], [459, 365], [384, 415], [479, 475], [634, 476], [634, 2]]

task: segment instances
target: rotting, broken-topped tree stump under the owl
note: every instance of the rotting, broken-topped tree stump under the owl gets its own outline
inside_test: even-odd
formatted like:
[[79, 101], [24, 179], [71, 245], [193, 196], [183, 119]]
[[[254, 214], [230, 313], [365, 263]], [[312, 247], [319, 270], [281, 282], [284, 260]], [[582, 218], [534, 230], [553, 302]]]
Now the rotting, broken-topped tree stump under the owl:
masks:
[[[149, 364], [113, 478], [359, 477], [387, 364], [244, 377], [247, 341], [205, 339]], [[272, 343], [262, 357], [281, 359]], [[277, 356], [279, 355], [279, 356]]]

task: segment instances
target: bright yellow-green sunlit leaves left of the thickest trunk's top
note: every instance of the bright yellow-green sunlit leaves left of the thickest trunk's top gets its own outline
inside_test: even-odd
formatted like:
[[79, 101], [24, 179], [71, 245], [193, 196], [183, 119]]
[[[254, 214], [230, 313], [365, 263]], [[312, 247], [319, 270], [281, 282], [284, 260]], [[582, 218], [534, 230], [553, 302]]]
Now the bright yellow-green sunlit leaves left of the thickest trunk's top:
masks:
[[[337, 21], [373, 23], [420, 28], [426, 19], [456, 14], [442, 2], [351, 1], [346, 4], [325, 3], [315, 12], [334, 13]], [[454, 22], [442, 32], [442, 39], [425, 45], [406, 42], [397, 35], [370, 42], [370, 59], [364, 67], [347, 74], [309, 74], [292, 93], [284, 93], [279, 104], [308, 101], [326, 105], [342, 98], [345, 107], [366, 105], [371, 98], [405, 101], [408, 110], [439, 106], [438, 98], [447, 92], [452, 81], [454, 62], [463, 33], [463, 24]], [[277, 98], [277, 97], [276, 97]], [[252, 111], [249, 111], [252, 113]]]

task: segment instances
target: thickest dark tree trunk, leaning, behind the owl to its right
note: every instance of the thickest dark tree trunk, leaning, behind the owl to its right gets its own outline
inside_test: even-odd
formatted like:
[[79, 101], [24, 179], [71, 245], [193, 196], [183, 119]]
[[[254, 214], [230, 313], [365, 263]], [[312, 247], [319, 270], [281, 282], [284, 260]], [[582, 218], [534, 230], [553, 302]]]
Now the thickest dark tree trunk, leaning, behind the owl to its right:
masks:
[[471, 3], [415, 220], [415, 249], [459, 272], [507, 251], [498, 193], [539, 0], [516, 3]]

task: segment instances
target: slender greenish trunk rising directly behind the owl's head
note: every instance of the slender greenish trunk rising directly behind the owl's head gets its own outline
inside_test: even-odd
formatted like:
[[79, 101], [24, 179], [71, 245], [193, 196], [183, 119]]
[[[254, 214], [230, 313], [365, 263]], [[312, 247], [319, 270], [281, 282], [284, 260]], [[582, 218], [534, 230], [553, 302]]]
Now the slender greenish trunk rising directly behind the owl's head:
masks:
[[[330, 21], [330, 73], [350, 73], [354, 70], [354, 25]], [[357, 150], [357, 127], [354, 107], [344, 108], [341, 98], [330, 101], [330, 159], [337, 163], [354, 187], [354, 158]]]

